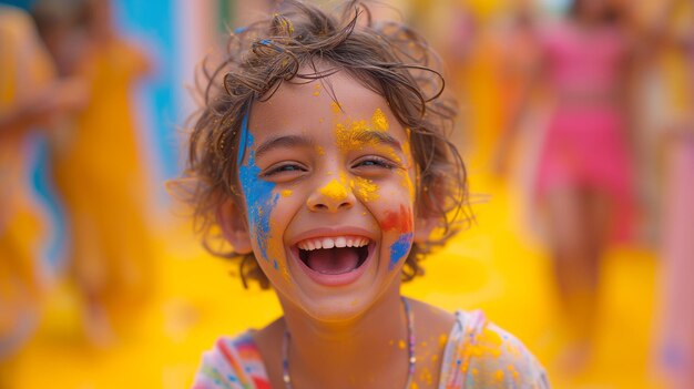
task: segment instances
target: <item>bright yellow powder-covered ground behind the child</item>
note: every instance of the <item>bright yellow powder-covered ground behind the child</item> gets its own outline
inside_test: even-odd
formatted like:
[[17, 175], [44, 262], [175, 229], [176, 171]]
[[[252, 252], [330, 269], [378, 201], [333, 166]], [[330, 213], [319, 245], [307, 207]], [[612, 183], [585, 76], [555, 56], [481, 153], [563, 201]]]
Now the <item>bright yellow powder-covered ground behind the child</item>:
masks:
[[[474, 170], [474, 167], [473, 167]], [[482, 308], [519, 336], [549, 368], [555, 388], [656, 388], [649, 383], [655, 258], [619, 248], [605, 262], [598, 356], [569, 382], [551, 369], [558, 307], [547, 254], [522, 227], [521, 196], [472, 174], [477, 225], [427, 259], [427, 276], [405, 294], [446, 309]], [[187, 388], [201, 352], [222, 334], [259, 327], [279, 314], [272, 293], [244, 291], [233, 267], [212, 258], [187, 232], [157, 242], [155, 297], [110, 348], [86, 345], [74, 294], [59, 288], [37, 336], [12, 366], [11, 388]]]

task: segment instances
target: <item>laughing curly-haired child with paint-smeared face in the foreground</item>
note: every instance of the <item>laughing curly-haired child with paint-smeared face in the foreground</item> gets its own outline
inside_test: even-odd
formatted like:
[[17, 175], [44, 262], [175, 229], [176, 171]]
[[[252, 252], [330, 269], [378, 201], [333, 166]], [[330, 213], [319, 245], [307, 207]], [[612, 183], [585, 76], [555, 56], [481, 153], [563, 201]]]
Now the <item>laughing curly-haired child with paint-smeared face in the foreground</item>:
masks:
[[357, 1], [339, 16], [284, 7], [233, 34], [206, 73], [178, 181], [205, 237], [221, 231], [284, 317], [221, 338], [194, 388], [548, 388], [481, 313], [400, 295], [466, 201], [455, 109], [425, 41]]

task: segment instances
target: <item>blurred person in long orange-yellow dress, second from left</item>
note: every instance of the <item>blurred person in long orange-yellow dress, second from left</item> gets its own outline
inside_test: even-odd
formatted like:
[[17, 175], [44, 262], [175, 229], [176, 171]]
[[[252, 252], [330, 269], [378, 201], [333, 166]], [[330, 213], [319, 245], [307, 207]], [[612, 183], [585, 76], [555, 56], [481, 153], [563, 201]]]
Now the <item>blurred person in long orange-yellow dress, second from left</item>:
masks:
[[135, 317], [154, 281], [146, 167], [131, 109], [132, 86], [150, 61], [118, 37], [108, 0], [39, 0], [33, 13], [61, 75], [81, 78], [90, 91], [73, 126], [54, 136], [52, 165], [85, 331], [105, 346]]

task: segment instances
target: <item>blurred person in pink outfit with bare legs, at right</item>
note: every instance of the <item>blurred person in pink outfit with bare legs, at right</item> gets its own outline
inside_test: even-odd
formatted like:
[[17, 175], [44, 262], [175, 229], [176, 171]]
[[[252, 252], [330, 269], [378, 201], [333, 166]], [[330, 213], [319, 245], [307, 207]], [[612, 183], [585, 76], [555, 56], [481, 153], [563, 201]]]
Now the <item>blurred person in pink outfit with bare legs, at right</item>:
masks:
[[561, 369], [589, 360], [600, 259], [611, 239], [633, 228], [630, 93], [636, 47], [623, 3], [575, 0], [562, 22], [538, 34], [538, 55], [500, 139], [494, 168], [508, 168], [511, 144], [530, 100], [542, 85], [550, 96], [535, 197], [544, 216], [567, 347]]

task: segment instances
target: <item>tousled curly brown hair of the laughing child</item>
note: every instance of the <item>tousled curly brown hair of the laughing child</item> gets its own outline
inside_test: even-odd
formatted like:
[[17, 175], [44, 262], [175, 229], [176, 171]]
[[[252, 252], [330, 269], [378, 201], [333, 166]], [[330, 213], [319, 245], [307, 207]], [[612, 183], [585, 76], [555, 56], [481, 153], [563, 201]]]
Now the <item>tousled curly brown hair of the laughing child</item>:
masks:
[[[419, 262], [467, 222], [467, 174], [449, 141], [456, 102], [442, 96], [440, 61], [427, 42], [398, 22], [371, 20], [360, 1], [347, 1], [334, 13], [300, 1], [284, 1], [272, 18], [231, 33], [224, 59], [203, 62], [202, 106], [192, 117], [187, 166], [174, 190], [194, 211], [194, 228], [215, 255], [235, 258], [244, 287], [248, 279], [269, 287], [254, 254], [241, 255], [221, 234], [217, 209], [233, 201], [244, 209], [236, 155], [242, 117], [256, 101], [272, 98], [283, 82], [306, 82], [346, 71], [382, 95], [397, 120], [409, 129], [419, 181], [418, 216], [436, 218], [438, 237], [415, 244], [402, 279], [423, 274]], [[318, 71], [316, 63], [327, 64]], [[302, 73], [309, 69], [313, 72]], [[324, 69], [324, 68], [322, 68]], [[200, 78], [196, 79], [200, 81]], [[335, 96], [333, 94], [335, 100]], [[245, 215], [243, 215], [245, 217]]]

